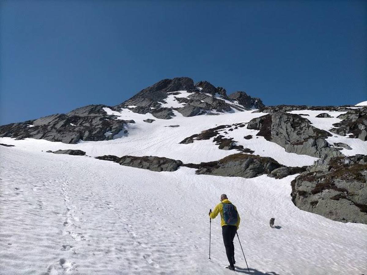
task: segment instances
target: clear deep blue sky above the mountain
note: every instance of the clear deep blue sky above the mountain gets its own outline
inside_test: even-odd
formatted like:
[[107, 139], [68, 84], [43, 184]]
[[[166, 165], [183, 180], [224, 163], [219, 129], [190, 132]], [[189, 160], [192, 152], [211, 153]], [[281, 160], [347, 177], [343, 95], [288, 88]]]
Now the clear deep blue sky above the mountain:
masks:
[[1, 1], [0, 124], [163, 78], [266, 105], [367, 100], [367, 1]]

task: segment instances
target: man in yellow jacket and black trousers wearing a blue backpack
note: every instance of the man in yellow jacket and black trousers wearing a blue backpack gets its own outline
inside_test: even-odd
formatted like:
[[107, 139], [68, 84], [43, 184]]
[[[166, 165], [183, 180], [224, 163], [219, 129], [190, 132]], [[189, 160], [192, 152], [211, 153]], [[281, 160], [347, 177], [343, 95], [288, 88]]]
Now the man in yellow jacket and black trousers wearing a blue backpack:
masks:
[[226, 254], [229, 261], [229, 266], [226, 267], [230, 270], [235, 270], [235, 247], [233, 246], [233, 239], [235, 238], [237, 229], [240, 225], [240, 215], [237, 212], [236, 206], [234, 206], [227, 198], [226, 194], [221, 195], [221, 203], [219, 203], [213, 209], [210, 209], [210, 219], [215, 219], [221, 214], [221, 226], [223, 242], [226, 248]]

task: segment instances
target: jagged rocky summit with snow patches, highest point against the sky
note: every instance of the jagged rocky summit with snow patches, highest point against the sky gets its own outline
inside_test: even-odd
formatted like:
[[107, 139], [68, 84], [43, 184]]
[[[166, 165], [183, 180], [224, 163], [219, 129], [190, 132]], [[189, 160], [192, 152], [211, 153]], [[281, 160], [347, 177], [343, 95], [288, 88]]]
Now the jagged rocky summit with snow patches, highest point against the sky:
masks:
[[185, 117], [216, 112], [243, 111], [265, 107], [259, 98], [244, 92], [227, 96], [226, 89], [214, 87], [208, 81], [194, 82], [189, 77], [161, 80], [142, 89], [116, 108], [130, 108], [139, 114], [151, 113], [157, 118], [170, 119], [173, 110]]

